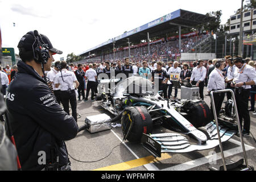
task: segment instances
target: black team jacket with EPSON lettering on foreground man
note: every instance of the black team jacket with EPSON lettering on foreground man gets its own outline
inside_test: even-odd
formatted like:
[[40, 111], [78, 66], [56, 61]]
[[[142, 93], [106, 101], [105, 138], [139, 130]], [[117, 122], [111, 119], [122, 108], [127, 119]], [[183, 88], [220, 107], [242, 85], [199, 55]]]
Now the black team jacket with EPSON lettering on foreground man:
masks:
[[46, 164], [52, 156], [59, 156], [59, 167], [68, 164], [64, 140], [76, 137], [77, 123], [61, 109], [46, 81], [23, 61], [7, 89], [6, 106], [22, 170], [42, 170], [42, 151]]

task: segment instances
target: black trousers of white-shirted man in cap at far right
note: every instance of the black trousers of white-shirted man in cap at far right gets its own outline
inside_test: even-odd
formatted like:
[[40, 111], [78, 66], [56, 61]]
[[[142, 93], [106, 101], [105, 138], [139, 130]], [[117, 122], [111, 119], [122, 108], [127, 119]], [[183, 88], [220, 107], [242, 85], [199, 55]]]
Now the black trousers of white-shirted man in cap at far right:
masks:
[[250, 114], [248, 111], [249, 96], [250, 89], [243, 89], [241, 93], [238, 92], [237, 89], [235, 89], [235, 97], [237, 102], [237, 110], [240, 124], [242, 127], [243, 119], [243, 130], [245, 130], [246, 132], [250, 132]]

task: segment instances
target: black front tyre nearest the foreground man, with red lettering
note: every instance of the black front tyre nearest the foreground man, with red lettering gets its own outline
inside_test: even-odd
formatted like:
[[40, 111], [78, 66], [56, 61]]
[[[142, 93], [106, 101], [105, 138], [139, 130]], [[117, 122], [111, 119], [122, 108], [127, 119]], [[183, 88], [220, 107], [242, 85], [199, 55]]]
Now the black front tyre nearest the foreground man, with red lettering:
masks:
[[123, 137], [132, 143], [141, 142], [142, 134], [152, 133], [152, 119], [146, 107], [127, 107], [121, 118]]

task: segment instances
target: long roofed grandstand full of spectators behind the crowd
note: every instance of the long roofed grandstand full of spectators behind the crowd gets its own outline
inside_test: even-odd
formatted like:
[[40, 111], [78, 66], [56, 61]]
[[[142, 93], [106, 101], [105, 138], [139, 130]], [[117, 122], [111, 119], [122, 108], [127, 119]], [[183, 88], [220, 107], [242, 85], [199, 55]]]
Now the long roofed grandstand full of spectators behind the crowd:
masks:
[[[180, 60], [182, 53], [210, 53], [212, 35], [209, 32], [181, 34], [181, 28], [192, 29], [211, 19], [214, 18], [180, 9], [82, 52], [80, 56], [87, 62], [116, 61], [125, 57], [141, 62], [145, 59]], [[177, 31], [179, 35], [167, 37], [168, 33]], [[146, 36], [148, 40], [144, 40]]]

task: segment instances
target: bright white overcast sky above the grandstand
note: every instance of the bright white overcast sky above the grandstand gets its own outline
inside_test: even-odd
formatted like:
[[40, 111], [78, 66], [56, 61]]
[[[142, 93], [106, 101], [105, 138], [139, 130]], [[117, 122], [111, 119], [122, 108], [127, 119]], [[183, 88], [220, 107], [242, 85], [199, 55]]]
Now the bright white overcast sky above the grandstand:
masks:
[[[183, 9], [207, 14], [222, 10], [221, 23], [241, 7], [241, 0], [0, 0], [2, 47], [14, 47], [28, 31], [46, 35], [53, 47], [63, 51], [53, 56], [66, 59], [151, 22]], [[15, 26], [14, 24], [15, 23]]]

